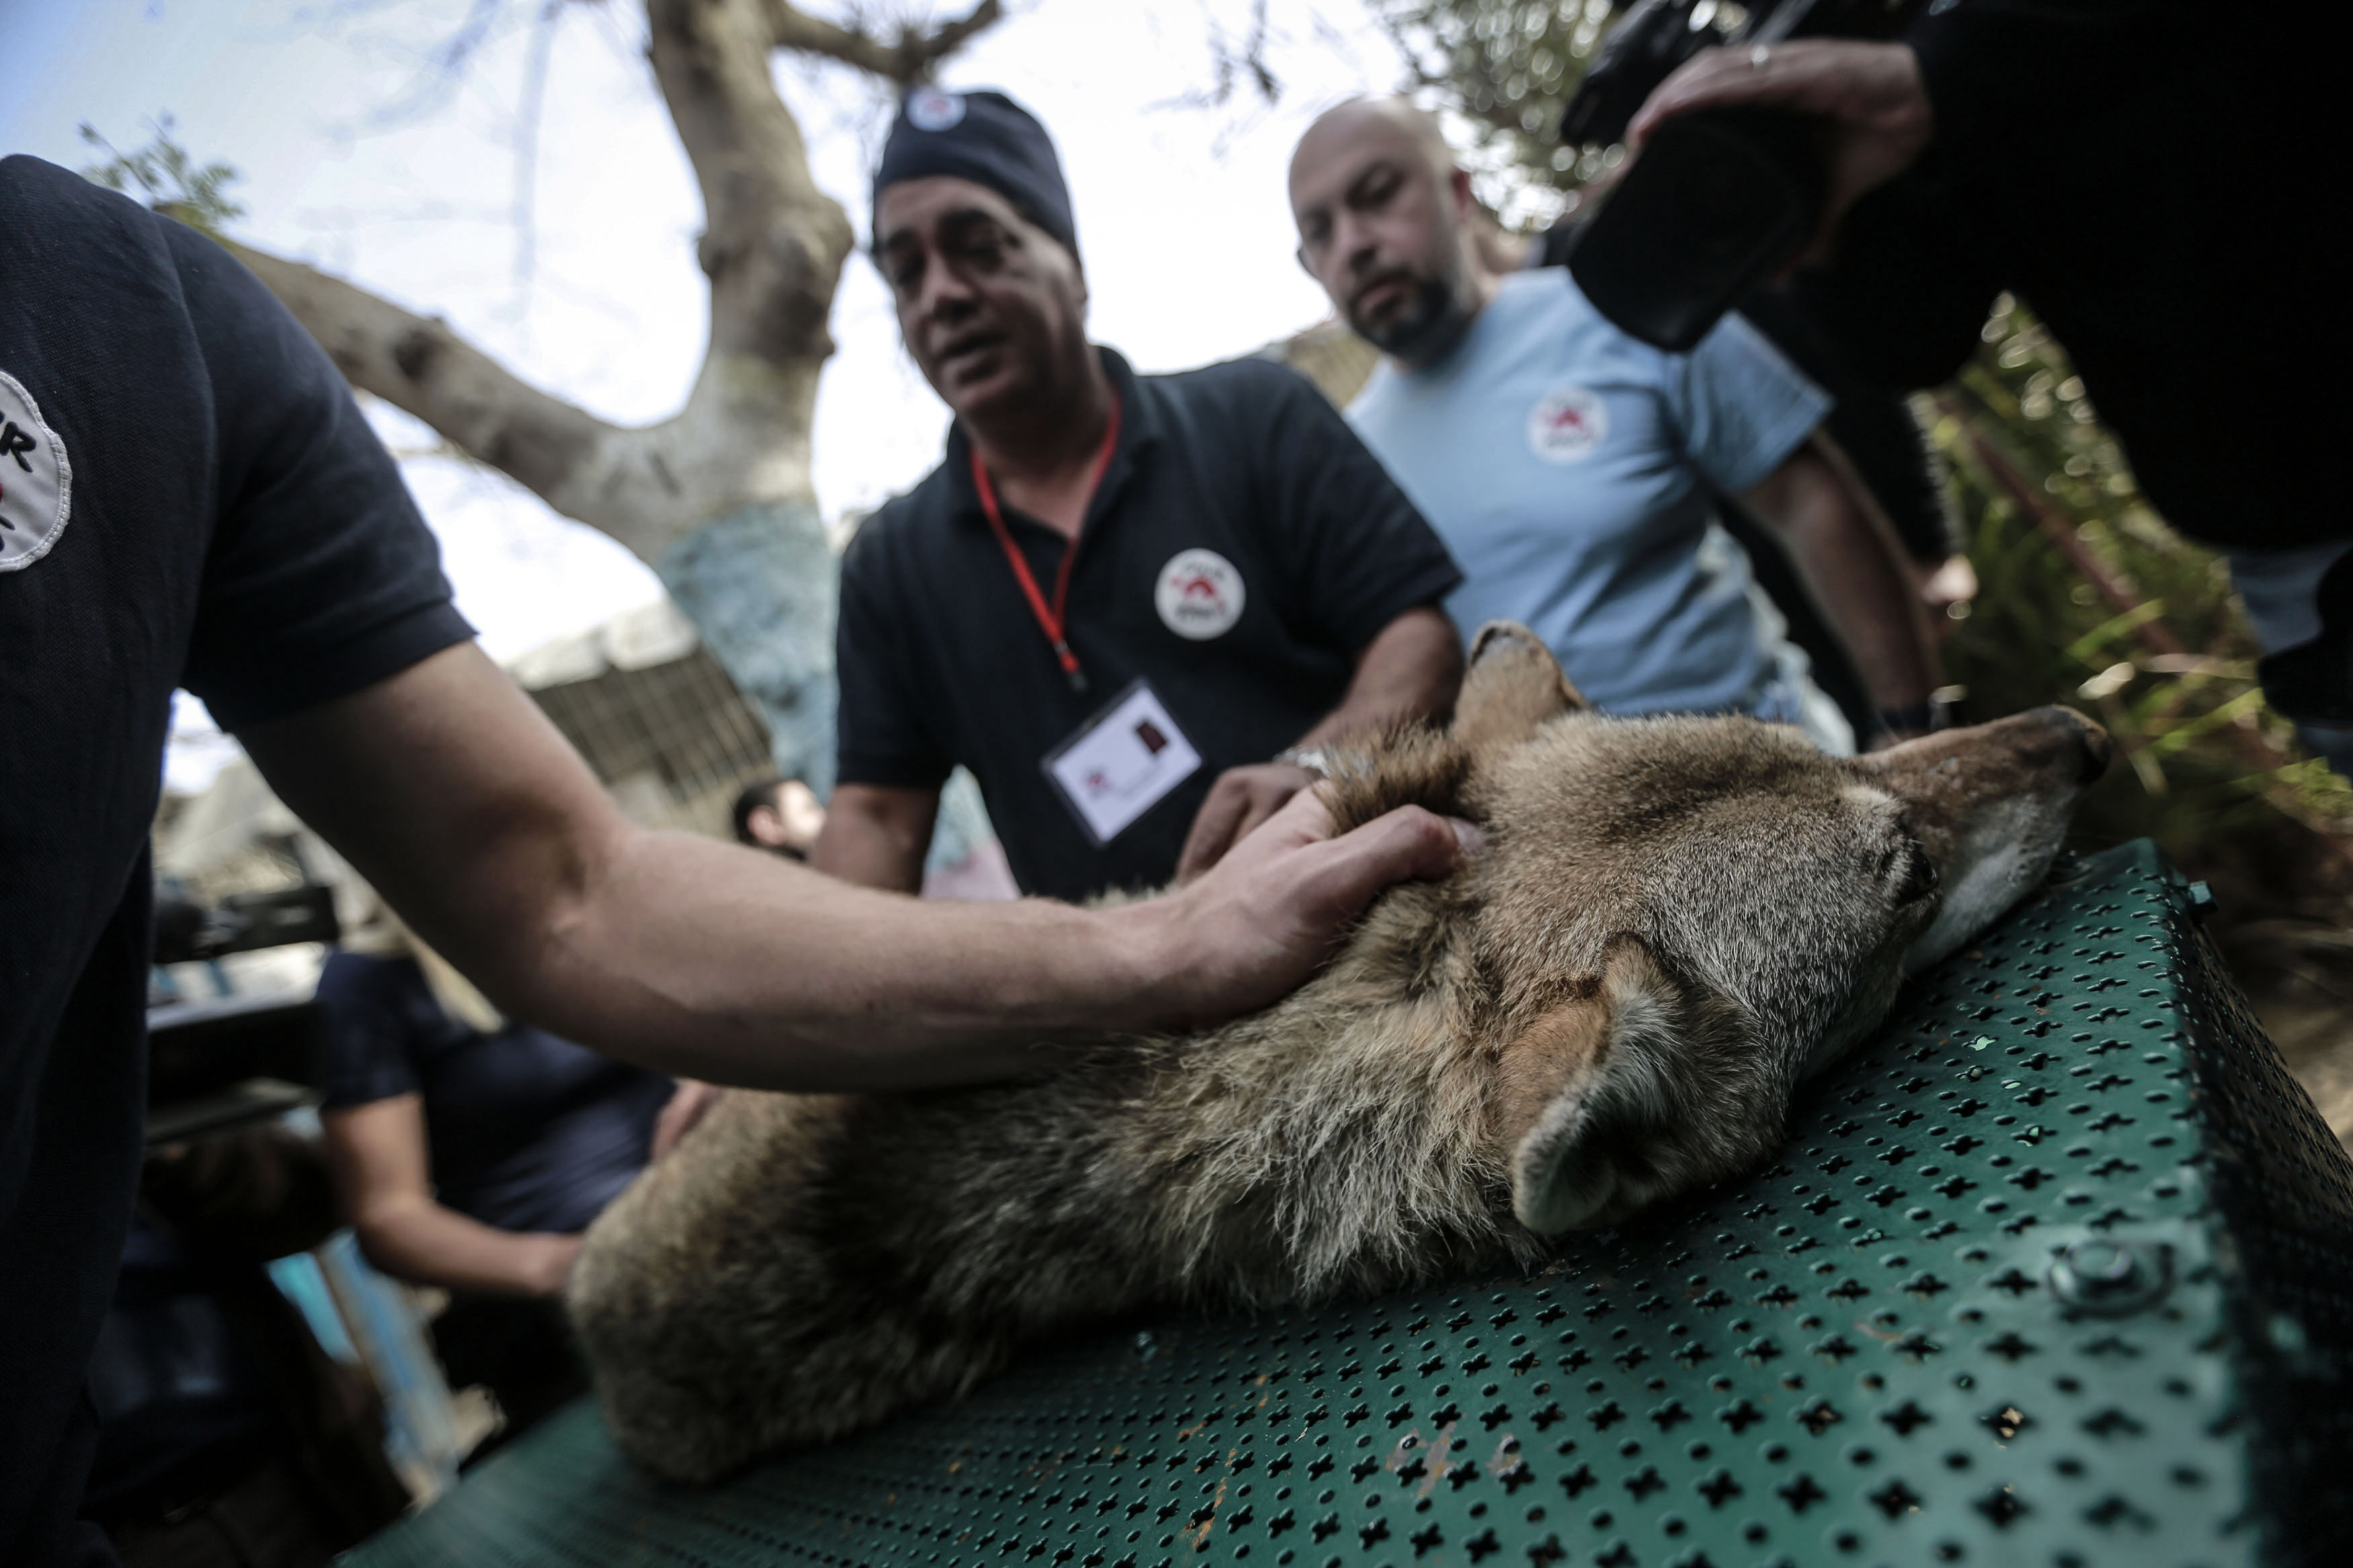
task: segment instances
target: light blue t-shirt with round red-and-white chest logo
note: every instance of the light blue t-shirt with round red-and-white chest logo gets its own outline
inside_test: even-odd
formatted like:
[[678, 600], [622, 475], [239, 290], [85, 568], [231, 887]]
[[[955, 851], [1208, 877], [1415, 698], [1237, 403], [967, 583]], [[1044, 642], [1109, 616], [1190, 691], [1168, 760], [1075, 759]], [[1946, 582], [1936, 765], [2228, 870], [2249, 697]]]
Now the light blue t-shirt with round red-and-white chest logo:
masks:
[[1384, 362], [1348, 418], [1461, 564], [1464, 637], [1529, 625], [1605, 712], [1798, 719], [1805, 656], [1713, 496], [1779, 468], [1828, 409], [1737, 315], [1668, 355], [1539, 268], [1438, 364]]

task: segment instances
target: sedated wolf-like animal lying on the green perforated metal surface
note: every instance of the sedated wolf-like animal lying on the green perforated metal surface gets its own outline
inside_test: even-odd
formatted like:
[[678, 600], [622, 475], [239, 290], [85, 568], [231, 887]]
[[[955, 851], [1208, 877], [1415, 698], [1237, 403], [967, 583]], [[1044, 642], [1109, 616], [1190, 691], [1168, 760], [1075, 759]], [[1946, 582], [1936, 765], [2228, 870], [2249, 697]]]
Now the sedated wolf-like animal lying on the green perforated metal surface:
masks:
[[1414, 802], [1485, 853], [1391, 889], [1289, 999], [1031, 1081], [725, 1095], [572, 1272], [612, 1432], [706, 1481], [1141, 1305], [1527, 1265], [1737, 1175], [1906, 971], [2040, 882], [2106, 752], [2061, 708], [1859, 759], [1605, 719], [1489, 625], [1454, 724], [1334, 785], [1344, 827]]

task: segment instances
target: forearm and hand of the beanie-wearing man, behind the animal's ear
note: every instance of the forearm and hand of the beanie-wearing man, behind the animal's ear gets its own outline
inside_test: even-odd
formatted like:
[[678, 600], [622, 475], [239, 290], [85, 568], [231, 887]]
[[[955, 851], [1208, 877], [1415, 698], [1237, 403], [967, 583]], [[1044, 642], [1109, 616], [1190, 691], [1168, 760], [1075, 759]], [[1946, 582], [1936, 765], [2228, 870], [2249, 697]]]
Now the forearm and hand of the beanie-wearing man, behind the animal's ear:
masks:
[[[1442, 719], [1454, 708], [1454, 689], [1461, 682], [1464, 644], [1454, 632], [1454, 618], [1435, 604], [1419, 604], [1384, 625], [1358, 651], [1355, 675], [1339, 708], [1299, 736], [1299, 748], [1360, 736], [1400, 719]], [[1254, 762], [1219, 773], [1200, 811], [1193, 813], [1193, 830], [1186, 835], [1184, 853], [1176, 856], [1176, 879], [1191, 882], [1217, 865], [1242, 835], [1313, 783], [1315, 773], [1287, 762]]]

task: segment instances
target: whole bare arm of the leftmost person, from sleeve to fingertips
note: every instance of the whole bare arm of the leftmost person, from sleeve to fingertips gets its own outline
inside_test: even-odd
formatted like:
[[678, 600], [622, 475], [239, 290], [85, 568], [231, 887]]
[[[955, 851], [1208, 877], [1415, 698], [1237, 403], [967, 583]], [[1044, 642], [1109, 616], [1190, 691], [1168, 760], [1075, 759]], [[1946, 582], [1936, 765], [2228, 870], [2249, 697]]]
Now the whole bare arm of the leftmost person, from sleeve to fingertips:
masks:
[[1169, 898], [958, 905], [631, 825], [473, 644], [242, 738], [511, 1016], [765, 1088], [981, 1081], [1052, 1063], [1059, 1039], [1266, 1006], [1379, 889], [1454, 870], [1468, 832], [1400, 809], [1332, 837], [1311, 792]]

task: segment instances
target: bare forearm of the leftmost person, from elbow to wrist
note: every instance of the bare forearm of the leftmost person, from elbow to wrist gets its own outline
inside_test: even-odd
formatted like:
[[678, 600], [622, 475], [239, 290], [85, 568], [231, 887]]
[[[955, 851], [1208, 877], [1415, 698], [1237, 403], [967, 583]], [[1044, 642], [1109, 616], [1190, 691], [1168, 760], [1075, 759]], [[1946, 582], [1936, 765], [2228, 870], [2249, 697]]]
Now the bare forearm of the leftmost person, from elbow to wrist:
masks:
[[1115, 912], [913, 900], [689, 835], [633, 835], [518, 1011], [647, 1067], [767, 1088], [1007, 1077], [1167, 1016]]

